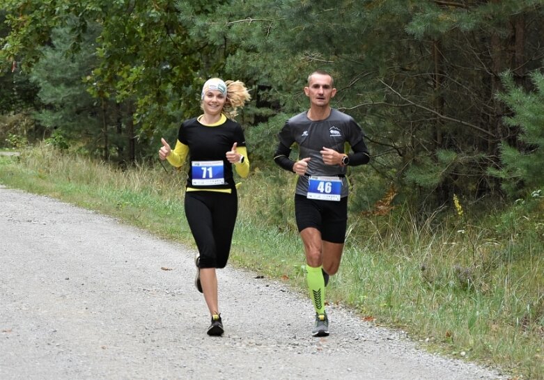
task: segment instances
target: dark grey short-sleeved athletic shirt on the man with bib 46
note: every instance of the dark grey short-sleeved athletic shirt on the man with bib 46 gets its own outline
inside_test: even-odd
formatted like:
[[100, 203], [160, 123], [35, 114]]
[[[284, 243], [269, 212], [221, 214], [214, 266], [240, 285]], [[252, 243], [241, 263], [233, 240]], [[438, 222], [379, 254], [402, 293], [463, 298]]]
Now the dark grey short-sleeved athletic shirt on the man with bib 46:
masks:
[[[341, 197], [348, 196], [348, 180], [345, 179], [345, 167], [325, 165], [320, 150], [323, 147], [343, 153], [345, 143], [351, 146], [363, 139], [361, 127], [353, 118], [336, 109], [325, 120], [313, 121], [308, 118], [306, 111], [299, 113], [286, 121], [278, 134], [279, 141], [290, 147], [293, 143], [299, 146], [299, 158], [311, 157], [308, 162], [309, 175], [337, 176], [342, 175]], [[299, 176], [295, 193], [306, 196], [308, 192], [307, 176]]]

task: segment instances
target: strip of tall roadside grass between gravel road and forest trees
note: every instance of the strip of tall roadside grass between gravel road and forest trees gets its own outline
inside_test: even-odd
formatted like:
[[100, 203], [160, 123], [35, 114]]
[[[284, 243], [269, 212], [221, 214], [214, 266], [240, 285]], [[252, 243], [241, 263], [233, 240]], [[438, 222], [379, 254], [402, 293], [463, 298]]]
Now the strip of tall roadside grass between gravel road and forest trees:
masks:
[[[0, 183], [94, 209], [194, 248], [185, 175], [156, 164], [125, 170], [42, 145], [0, 157]], [[305, 293], [294, 221], [293, 176], [254, 170], [242, 180], [231, 262]], [[431, 351], [544, 379], [544, 217], [541, 198], [472, 221], [400, 205], [382, 216], [350, 214], [329, 303], [369, 323], [400, 328]]]

